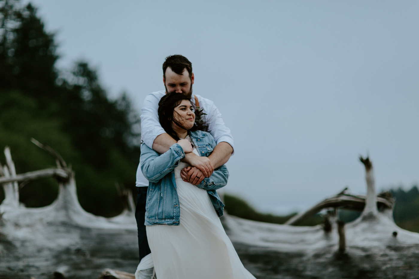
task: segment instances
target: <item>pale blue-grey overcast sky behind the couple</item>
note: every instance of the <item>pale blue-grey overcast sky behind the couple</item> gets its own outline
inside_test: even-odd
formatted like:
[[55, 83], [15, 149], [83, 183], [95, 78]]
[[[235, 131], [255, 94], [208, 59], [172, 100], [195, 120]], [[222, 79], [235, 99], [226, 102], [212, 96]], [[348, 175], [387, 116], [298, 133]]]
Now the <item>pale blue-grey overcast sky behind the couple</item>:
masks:
[[235, 139], [225, 190], [258, 209], [365, 194], [367, 152], [379, 190], [419, 181], [419, 1], [32, 3], [57, 66], [88, 60], [139, 112], [165, 57], [188, 57]]

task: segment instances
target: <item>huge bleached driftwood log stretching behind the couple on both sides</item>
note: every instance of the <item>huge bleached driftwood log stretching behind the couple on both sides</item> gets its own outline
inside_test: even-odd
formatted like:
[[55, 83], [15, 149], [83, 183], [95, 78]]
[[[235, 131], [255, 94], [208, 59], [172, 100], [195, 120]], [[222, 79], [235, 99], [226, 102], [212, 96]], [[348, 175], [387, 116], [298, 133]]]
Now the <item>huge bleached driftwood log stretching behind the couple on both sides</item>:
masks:
[[[0, 205], [0, 278], [132, 277], [138, 264], [132, 196], [127, 194], [129, 206], [117, 217], [85, 212], [78, 203], [74, 173], [58, 153], [49, 152], [57, 159], [55, 171], [18, 175], [9, 155], [0, 167], [5, 191]], [[19, 204], [17, 181], [47, 173], [59, 181], [57, 199], [42, 208]], [[366, 179], [366, 198], [341, 194], [364, 212], [340, 227], [340, 238], [333, 218], [328, 232], [321, 225], [276, 225], [228, 215], [221, 220], [256, 278], [417, 278], [419, 234], [397, 227], [391, 200], [376, 197], [372, 164], [369, 170], [366, 166]], [[383, 212], [376, 210], [380, 201]]]

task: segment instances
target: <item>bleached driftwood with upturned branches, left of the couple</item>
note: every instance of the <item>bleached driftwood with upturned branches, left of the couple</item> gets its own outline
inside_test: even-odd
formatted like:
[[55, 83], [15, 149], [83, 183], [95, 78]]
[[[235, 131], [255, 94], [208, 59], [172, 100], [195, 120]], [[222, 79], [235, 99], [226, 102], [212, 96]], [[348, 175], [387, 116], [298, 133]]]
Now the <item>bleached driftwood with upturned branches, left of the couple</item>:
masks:
[[[10, 204], [10, 199], [18, 199], [14, 191], [6, 192], [0, 204], [0, 278], [97, 278], [98, 269], [106, 267], [135, 271], [138, 247], [134, 212], [113, 218], [86, 212], [78, 202], [74, 173], [65, 161], [51, 147], [32, 142], [54, 156], [57, 168], [11, 177], [4, 166], [0, 184], [10, 186], [53, 176], [59, 184], [58, 196], [46, 207], [26, 208]], [[130, 193], [124, 196], [132, 198]], [[127, 204], [133, 210], [133, 204]]]

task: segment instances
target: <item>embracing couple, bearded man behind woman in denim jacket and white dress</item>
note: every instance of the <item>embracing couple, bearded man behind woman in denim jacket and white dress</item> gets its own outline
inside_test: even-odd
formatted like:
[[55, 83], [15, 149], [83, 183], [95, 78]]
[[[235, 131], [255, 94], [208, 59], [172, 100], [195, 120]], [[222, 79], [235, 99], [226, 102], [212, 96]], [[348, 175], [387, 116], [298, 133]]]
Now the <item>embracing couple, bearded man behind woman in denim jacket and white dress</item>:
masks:
[[216, 190], [228, 180], [230, 129], [212, 101], [192, 95], [194, 73], [186, 57], [166, 57], [163, 83], [166, 90], [147, 95], [141, 114], [136, 277], [254, 278], [219, 219], [224, 204]]

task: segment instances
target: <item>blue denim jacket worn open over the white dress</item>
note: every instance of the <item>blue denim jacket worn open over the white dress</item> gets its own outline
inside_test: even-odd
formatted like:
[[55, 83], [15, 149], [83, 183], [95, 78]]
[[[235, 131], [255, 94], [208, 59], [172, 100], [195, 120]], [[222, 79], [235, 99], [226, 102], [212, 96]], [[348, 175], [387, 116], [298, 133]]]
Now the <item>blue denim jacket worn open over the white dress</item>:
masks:
[[[193, 144], [201, 156], [209, 156], [216, 145], [214, 137], [208, 132], [189, 133]], [[175, 171], [179, 161], [185, 157], [184, 150], [177, 143], [169, 150], [159, 154], [144, 143], [141, 145], [141, 171], [149, 181], [145, 205], [145, 225], [179, 225], [179, 198], [176, 190]], [[197, 185], [207, 190], [218, 216], [221, 217], [224, 204], [215, 190], [227, 184], [228, 170], [225, 165], [216, 168], [212, 175]]]

